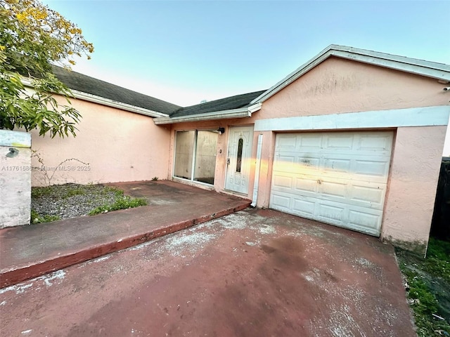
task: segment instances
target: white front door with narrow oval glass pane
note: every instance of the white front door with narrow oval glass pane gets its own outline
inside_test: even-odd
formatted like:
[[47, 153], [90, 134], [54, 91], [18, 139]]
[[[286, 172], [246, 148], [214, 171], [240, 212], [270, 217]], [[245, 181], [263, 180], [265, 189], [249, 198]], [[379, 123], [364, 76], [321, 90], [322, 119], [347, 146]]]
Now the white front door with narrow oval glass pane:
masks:
[[230, 128], [226, 159], [225, 189], [248, 193], [250, 159], [252, 157], [253, 126]]

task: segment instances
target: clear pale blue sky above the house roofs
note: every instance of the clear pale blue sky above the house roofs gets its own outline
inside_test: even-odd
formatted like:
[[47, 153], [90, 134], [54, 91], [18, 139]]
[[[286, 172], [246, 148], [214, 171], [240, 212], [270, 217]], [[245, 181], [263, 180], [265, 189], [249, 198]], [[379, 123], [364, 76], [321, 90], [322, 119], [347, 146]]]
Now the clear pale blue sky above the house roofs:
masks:
[[450, 1], [43, 3], [94, 44], [74, 71], [181, 106], [270, 88], [330, 44], [450, 64]]

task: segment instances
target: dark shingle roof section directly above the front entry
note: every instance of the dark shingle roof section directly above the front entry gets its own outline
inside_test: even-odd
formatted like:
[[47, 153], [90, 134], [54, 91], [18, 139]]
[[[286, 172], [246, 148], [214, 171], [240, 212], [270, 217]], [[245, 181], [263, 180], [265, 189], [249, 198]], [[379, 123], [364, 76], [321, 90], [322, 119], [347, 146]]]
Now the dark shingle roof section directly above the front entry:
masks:
[[240, 107], [246, 107], [250, 105], [250, 102], [264, 93], [263, 91], [255, 91], [254, 93], [244, 93], [242, 95], [231, 96], [227, 98], [221, 98], [219, 100], [212, 100], [206, 103], [200, 103], [197, 105], [191, 105], [190, 107], [181, 107], [176, 110], [170, 117], [182, 117], [189, 116], [191, 114], [206, 114], [208, 112], [216, 112], [223, 110], [238, 109]]

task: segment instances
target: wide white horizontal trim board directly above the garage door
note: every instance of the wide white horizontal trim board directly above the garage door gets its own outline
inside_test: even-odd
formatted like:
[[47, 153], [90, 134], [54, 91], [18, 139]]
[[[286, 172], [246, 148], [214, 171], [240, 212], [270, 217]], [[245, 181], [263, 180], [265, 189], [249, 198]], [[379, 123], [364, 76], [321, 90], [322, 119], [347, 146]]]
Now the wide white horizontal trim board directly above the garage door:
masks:
[[437, 126], [449, 123], [450, 106], [321, 114], [259, 119], [255, 131], [335, 130], [340, 128], [393, 128]]

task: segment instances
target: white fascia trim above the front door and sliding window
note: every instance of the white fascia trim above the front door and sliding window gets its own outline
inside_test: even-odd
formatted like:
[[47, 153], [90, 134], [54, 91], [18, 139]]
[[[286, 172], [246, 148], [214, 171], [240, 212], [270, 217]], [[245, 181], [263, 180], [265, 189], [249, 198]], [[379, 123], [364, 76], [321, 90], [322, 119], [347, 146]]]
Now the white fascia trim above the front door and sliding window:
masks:
[[156, 125], [160, 125], [181, 123], [183, 121], [211, 121], [214, 119], [245, 118], [252, 117], [252, 113], [261, 110], [261, 107], [262, 103], [256, 103], [250, 105], [250, 107], [240, 107], [239, 109], [207, 112], [205, 114], [190, 114], [188, 116], [180, 117], [160, 117], [153, 119], [153, 121]]

